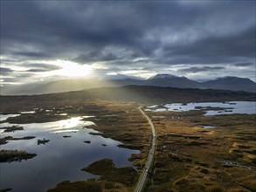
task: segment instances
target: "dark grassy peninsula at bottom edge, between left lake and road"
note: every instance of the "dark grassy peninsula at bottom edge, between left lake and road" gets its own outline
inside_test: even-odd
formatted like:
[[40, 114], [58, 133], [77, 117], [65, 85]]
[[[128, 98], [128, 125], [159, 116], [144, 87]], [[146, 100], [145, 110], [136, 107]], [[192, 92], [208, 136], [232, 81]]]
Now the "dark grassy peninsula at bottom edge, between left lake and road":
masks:
[[95, 161], [86, 168], [82, 168], [83, 171], [92, 173], [94, 175], [100, 175], [100, 178], [96, 182], [95, 180], [89, 180], [87, 182], [61, 182], [55, 189], [49, 189], [47, 192], [59, 192], [59, 191], [132, 191], [134, 189], [134, 183], [138, 179], [137, 172], [134, 168], [115, 168], [114, 162], [110, 159], [103, 159]]

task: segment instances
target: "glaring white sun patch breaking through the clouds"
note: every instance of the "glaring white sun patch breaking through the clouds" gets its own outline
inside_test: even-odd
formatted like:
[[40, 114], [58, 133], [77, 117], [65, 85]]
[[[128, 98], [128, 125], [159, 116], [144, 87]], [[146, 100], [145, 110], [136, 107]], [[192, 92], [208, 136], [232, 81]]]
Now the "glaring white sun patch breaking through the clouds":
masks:
[[57, 60], [55, 65], [58, 65], [61, 68], [55, 71], [55, 75], [63, 77], [87, 78], [93, 73], [91, 65], [80, 65], [78, 63], [67, 60]]

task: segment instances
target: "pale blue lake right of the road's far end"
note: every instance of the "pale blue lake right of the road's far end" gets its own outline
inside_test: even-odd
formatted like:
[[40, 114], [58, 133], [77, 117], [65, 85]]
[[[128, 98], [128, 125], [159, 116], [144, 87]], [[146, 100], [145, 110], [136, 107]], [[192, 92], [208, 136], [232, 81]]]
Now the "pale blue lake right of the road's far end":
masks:
[[[219, 110], [209, 110], [206, 107], [220, 107]], [[232, 102], [205, 102], [205, 103], [172, 103], [162, 106], [148, 106], [148, 111], [173, 111], [186, 112], [190, 110], [205, 111], [204, 115], [232, 114], [232, 113], [256, 113], [255, 101], [232, 101]]]

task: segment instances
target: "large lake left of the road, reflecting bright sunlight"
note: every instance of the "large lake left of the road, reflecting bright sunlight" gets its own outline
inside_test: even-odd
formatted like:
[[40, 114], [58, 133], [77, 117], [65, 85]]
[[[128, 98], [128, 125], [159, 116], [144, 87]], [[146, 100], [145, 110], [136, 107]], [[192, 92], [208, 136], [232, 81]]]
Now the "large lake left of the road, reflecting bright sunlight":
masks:
[[[82, 118], [22, 125], [2, 123], [1, 127], [13, 125], [24, 127], [22, 131], [2, 133], [2, 138], [5, 136], [19, 138], [35, 136], [36, 138], [9, 141], [0, 146], [1, 149], [25, 150], [38, 155], [27, 161], [0, 163], [0, 189], [12, 188], [13, 191], [18, 192], [40, 192], [53, 188], [57, 183], [65, 180], [75, 182], [97, 178], [97, 175], [81, 171], [81, 168], [103, 158], [113, 159], [116, 167], [132, 166], [128, 158], [131, 154], [138, 154], [138, 150], [121, 148], [118, 147], [121, 144], [118, 141], [89, 134], [98, 132], [92, 128], [86, 128], [94, 123], [83, 121]], [[50, 141], [45, 145], [38, 145], [38, 139]], [[91, 141], [91, 143], [84, 141]]]

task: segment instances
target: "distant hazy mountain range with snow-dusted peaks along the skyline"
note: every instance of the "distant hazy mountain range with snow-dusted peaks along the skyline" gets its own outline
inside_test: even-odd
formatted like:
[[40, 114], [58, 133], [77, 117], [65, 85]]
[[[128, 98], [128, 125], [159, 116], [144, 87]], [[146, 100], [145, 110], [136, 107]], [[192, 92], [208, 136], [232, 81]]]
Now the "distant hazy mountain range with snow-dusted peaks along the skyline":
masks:
[[251, 79], [224, 77], [205, 82], [197, 82], [186, 77], [171, 74], [157, 74], [149, 79], [62, 79], [46, 84], [25, 84], [22, 86], [3, 86], [2, 95], [23, 95], [43, 93], [63, 93], [96, 87], [116, 86], [162, 86], [176, 88], [219, 89], [256, 93], [256, 83]]

